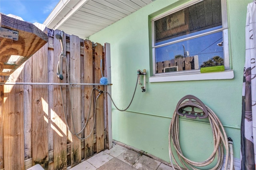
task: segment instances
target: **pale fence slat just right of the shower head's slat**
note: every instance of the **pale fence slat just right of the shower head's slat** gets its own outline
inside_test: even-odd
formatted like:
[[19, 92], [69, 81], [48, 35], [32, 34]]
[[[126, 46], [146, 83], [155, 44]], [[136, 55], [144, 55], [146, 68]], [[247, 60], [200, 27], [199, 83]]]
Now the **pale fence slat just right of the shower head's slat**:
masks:
[[[80, 38], [70, 36], [70, 83], [80, 83]], [[81, 90], [80, 86], [72, 86], [70, 126], [75, 133], [81, 130]], [[81, 137], [79, 134], [78, 136]], [[81, 161], [81, 140], [76, 135], [71, 136], [71, 167]]]

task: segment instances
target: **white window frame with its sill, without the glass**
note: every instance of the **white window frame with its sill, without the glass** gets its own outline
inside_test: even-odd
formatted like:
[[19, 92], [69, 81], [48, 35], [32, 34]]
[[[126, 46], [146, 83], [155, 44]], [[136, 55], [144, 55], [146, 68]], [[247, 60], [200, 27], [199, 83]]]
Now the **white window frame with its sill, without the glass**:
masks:
[[[152, 28], [152, 76], [149, 78], [150, 82], [169, 82], [169, 81], [187, 81], [187, 80], [216, 80], [216, 79], [232, 79], [234, 78], [234, 71], [230, 70], [230, 58], [229, 58], [229, 44], [228, 44], [228, 19], [227, 19], [227, 4], [226, 0], [221, 0], [222, 7], [222, 28], [213, 30], [210, 32], [205, 32], [196, 36], [190, 36], [188, 38], [183, 38], [173, 42], [168, 42], [165, 44], [160, 44], [155, 46], [155, 30], [154, 30], [154, 21], [164, 18], [172, 13], [178, 12], [188, 6], [192, 6], [203, 0], [191, 0], [190, 2], [183, 4], [177, 8], [164, 12], [156, 17], [151, 19], [151, 28]], [[186, 70], [178, 72], [167, 72], [167, 73], [157, 73], [156, 74], [156, 62], [155, 62], [155, 49], [157, 47], [166, 46], [169, 44], [175, 44], [184, 40], [190, 40], [195, 37], [205, 36], [208, 34], [223, 32], [223, 52], [224, 52], [224, 72], [212, 72], [212, 73], [200, 73], [200, 70]]]

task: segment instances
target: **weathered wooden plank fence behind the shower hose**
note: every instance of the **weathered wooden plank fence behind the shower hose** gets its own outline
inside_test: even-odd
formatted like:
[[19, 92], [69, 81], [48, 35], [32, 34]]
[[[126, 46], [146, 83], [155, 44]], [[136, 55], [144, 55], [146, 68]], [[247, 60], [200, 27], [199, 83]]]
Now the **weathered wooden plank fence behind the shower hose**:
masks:
[[[91, 96], [93, 87], [100, 90], [109, 87], [72, 85], [69, 90], [68, 86], [62, 85], [61, 94], [59, 85], [43, 85], [46, 82], [68, 83], [68, 72], [70, 83], [99, 83], [101, 58], [103, 73], [106, 74], [106, 44], [104, 47], [97, 43], [93, 47], [90, 40], [64, 34], [67, 63], [63, 59], [64, 79], [59, 80], [56, 70], [61, 47], [54, 34], [60, 31], [46, 28], [44, 32], [48, 34], [48, 43], [12, 73], [7, 81], [6, 77], [1, 77], [6, 83], [42, 84], [0, 86], [0, 170], [24, 170], [35, 164], [40, 164], [45, 170], [62, 170], [112, 146], [108, 96], [101, 94], [97, 102], [99, 92], [94, 90]], [[71, 131], [74, 128], [80, 130], [87, 121], [90, 98], [92, 104], [88, 124], [79, 136], [84, 138], [92, 129], [93, 132], [85, 140], [80, 140], [68, 131], [64, 113], [67, 113]]]

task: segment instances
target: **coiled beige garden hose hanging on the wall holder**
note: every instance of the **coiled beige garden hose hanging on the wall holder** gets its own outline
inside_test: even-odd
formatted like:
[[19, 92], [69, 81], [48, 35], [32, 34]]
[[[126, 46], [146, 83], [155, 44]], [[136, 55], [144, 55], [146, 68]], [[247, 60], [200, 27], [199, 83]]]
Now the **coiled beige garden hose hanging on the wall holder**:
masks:
[[[202, 106], [198, 102], [194, 102], [194, 104], [196, 104], [198, 108], [203, 110]], [[185, 106], [186, 102], [182, 103], [181, 105]], [[214, 150], [212, 154], [209, 156], [209, 158], [207, 158], [205, 161], [202, 161], [202, 162], [194, 162], [192, 160], [189, 160], [183, 155], [182, 150], [180, 148], [180, 141], [179, 141], [179, 131], [180, 131], [179, 115], [176, 113], [176, 110], [175, 110], [170, 123], [170, 127], [169, 127], [169, 156], [170, 156], [170, 162], [173, 170], [174, 170], [174, 165], [172, 161], [175, 162], [176, 169], [178, 168], [179, 170], [182, 170], [182, 167], [178, 164], [176, 158], [174, 157], [174, 153], [173, 153], [174, 149], [176, 151], [177, 157], [180, 160], [182, 166], [186, 167], [186, 169], [200, 170], [198, 169], [199, 167], [208, 166], [214, 161], [215, 158], [217, 158], [217, 162], [215, 166], [209, 170], [221, 170], [224, 163], [223, 162], [224, 148], [226, 150], [226, 160], [224, 164], [225, 165], [224, 170], [228, 170], [228, 160], [230, 162], [230, 167], [232, 167], [230, 168], [230, 170], [233, 170], [234, 167], [233, 167], [232, 140], [231, 138], [229, 139], [227, 138], [224, 128], [219, 118], [216, 116], [216, 114], [208, 106], [206, 106], [206, 108], [208, 111], [208, 119], [210, 122], [210, 126], [212, 128], [212, 134], [213, 134]]]

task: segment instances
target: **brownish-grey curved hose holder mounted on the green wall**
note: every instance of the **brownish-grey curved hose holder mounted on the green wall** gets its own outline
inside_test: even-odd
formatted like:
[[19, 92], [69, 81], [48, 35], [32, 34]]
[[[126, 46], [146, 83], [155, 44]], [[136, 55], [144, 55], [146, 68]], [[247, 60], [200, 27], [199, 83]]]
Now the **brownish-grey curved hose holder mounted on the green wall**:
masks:
[[[191, 108], [191, 110], [188, 110]], [[195, 111], [195, 108], [202, 110]], [[180, 99], [176, 106], [176, 113], [180, 116], [186, 116], [186, 118], [196, 119], [204, 119], [208, 117], [208, 111], [204, 103], [193, 95], [186, 95]]]

